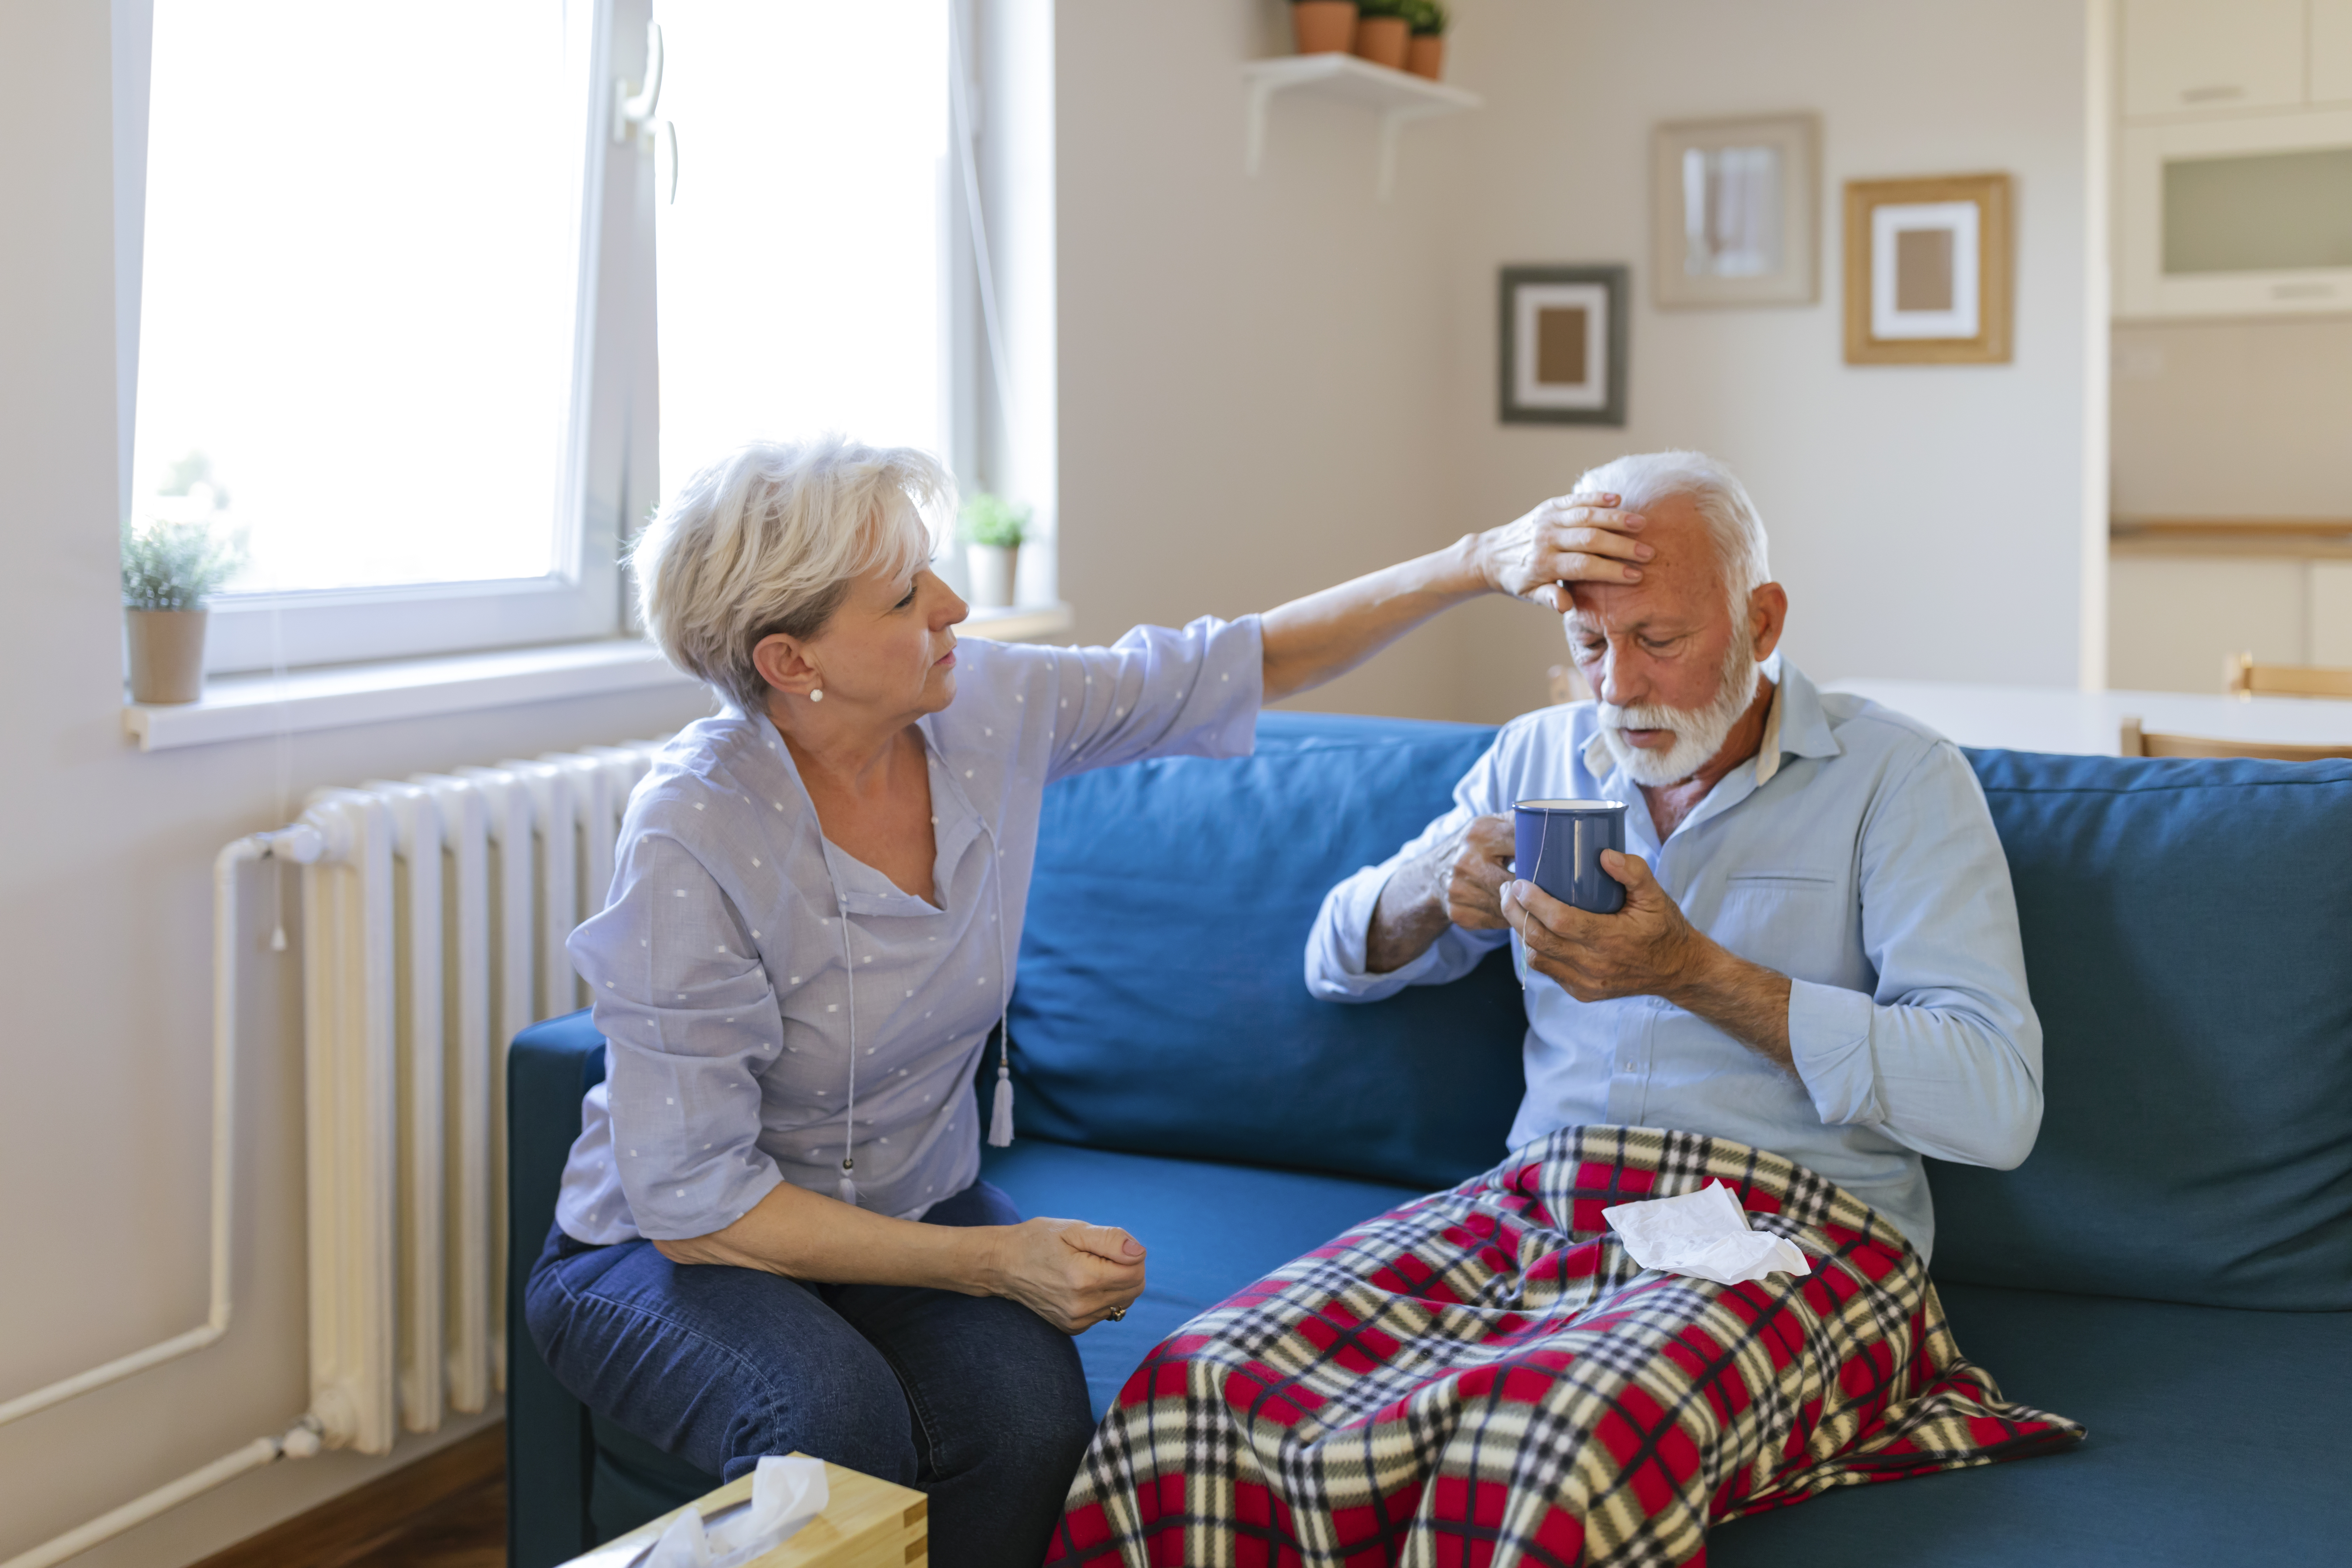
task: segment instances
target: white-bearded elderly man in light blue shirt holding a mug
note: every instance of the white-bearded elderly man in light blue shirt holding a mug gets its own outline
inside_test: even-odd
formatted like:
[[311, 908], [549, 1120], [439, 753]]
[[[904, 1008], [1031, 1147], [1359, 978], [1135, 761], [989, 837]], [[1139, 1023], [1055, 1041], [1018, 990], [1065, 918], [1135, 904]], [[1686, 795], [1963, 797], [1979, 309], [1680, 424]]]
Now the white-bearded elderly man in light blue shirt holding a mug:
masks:
[[[2042, 1126], [2042, 1027], [1976, 773], [1776, 658], [1788, 592], [1726, 468], [1656, 451], [1576, 489], [1616, 494], [1595, 520], [1653, 552], [1566, 585], [1597, 701], [1512, 719], [1454, 811], [1331, 889], [1308, 985], [1374, 1001], [1517, 938], [1512, 1147], [1590, 1124], [1736, 1138], [1846, 1187], [1924, 1258], [1919, 1157], [2009, 1168]], [[1512, 879], [1512, 802], [1562, 797], [1628, 802], [1632, 853], [1602, 858], [1616, 914]]]

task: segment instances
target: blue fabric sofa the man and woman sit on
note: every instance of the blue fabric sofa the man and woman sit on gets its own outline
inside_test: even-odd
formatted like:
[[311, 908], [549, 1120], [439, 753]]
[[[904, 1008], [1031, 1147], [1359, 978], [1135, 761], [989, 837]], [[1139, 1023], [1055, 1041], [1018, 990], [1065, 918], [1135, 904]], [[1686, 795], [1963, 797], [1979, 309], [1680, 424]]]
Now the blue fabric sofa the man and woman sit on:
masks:
[[[1150, 1288], [1080, 1340], [1103, 1406], [1183, 1319], [1503, 1157], [1508, 957], [1376, 1006], [1312, 1001], [1308, 922], [1449, 802], [1489, 729], [1265, 715], [1242, 762], [1047, 795], [1014, 994], [1025, 1213], [1136, 1232]], [[1973, 752], [2046, 1030], [2018, 1171], [1931, 1161], [1962, 1349], [2074, 1415], [2053, 1458], [1722, 1526], [1719, 1568], [2352, 1561], [2352, 764]], [[510, 1056], [513, 1284], [546, 1234], [586, 1016]], [[510, 1326], [513, 1568], [710, 1486], [590, 1420]]]

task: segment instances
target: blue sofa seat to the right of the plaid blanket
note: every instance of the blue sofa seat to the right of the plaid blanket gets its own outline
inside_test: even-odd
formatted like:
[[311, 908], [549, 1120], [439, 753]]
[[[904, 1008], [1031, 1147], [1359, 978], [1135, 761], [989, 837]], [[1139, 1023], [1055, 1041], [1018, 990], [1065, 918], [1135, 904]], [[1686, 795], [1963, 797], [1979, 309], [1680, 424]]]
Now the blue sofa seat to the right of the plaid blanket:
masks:
[[2004, 1394], [2091, 1436], [1736, 1519], [1708, 1533], [1712, 1568], [2216, 1568], [2352, 1552], [2352, 1312], [1940, 1291], [1959, 1349]]

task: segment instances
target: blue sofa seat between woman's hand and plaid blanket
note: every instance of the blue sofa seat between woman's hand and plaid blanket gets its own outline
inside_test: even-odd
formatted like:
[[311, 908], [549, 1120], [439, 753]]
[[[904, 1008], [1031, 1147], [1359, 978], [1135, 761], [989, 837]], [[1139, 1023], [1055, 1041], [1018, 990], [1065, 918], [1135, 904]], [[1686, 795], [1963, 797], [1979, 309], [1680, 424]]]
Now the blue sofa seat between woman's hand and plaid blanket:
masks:
[[1185, 1319], [1423, 1192], [1310, 1171], [1082, 1150], [1028, 1133], [1011, 1147], [981, 1150], [981, 1175], [1004, 1187], [1023, 1215], [1120, 1225], [1148, 1251], [1143, 1295], [1127, 1316], [1077, 1338], [1096, 1415]]

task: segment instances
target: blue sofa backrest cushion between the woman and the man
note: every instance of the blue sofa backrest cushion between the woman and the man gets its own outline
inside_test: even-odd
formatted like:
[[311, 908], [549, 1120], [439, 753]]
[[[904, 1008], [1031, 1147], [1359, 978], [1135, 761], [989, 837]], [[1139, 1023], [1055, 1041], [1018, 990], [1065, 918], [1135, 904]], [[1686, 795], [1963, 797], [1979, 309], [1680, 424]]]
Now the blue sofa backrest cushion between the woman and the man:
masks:
[[1418, 1187], [1498, 1161], [1526, 1032], [1508, 952], [1374, 1004], [1303, 980], [1322, 896], [1444, 813], [1491, 741], [1268, 712], [1254, 757], [1049, 788], [1011, 1006], [1021, 1133]]

